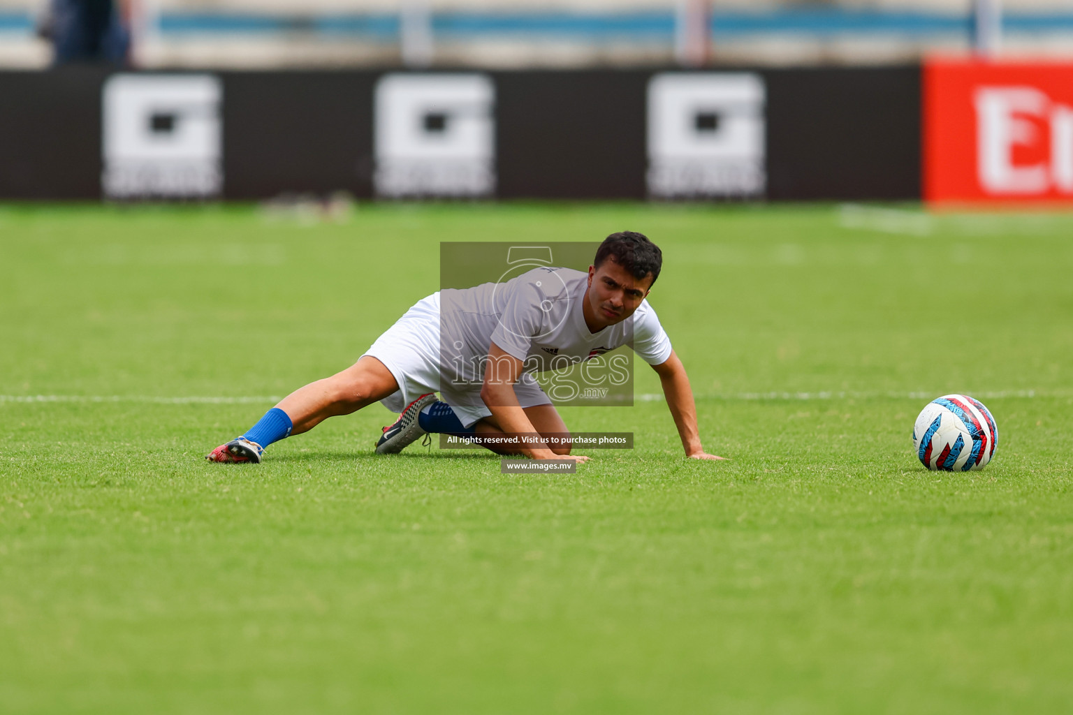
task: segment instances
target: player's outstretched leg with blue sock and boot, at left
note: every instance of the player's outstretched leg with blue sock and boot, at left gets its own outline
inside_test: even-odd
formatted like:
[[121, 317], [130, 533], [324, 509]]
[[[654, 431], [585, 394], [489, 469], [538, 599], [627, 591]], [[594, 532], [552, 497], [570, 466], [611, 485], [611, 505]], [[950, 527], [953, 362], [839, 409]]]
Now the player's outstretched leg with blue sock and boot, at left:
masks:
[[220, 445], [205, 459], [210, 462], [255, 464], [271, 443], [308, 432], [328, 417], [357, 412], [397, 389], [398, 383], [384, 363], [366, 355], [342, 372], [291, 392], [265, 413], [256, 424], [237, 438]]

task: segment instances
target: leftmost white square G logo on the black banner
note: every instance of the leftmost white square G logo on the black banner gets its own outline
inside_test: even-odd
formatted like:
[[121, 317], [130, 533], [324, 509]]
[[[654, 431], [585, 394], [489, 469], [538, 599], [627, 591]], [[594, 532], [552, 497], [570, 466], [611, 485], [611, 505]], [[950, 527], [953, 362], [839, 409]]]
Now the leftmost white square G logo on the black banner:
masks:
[[219, 195], [220, 80], [211, 75], [118, 74], [104, 84], [104, 194], [111, 198]]

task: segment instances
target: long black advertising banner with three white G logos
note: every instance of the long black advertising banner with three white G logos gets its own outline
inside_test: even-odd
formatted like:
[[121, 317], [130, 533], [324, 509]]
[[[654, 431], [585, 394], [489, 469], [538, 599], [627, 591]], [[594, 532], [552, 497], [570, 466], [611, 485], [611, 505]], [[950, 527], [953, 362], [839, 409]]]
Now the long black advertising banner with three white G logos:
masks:
[[0, 73], [0, 198], [921, 196], [921, 69]]

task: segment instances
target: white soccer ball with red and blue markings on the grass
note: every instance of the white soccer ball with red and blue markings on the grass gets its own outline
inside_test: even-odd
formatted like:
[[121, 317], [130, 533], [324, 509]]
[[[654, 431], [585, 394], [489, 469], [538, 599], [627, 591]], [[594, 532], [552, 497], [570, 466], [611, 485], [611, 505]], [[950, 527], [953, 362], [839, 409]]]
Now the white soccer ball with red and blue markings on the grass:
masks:
[[913, 424], [916, 457], [929, 470], [982, 470], [995, 456], [995, 418], [968, 394], [944, 394], [921, 411]]

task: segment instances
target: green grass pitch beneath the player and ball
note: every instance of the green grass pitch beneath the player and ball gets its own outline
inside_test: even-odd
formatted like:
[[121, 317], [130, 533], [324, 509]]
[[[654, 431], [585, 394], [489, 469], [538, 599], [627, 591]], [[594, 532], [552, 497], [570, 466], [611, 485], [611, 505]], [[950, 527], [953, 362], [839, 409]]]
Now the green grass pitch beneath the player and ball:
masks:
[[[379, 405], [202, 461], [436, 289], [439, 241], [627, 228], [732, 461], [659, 401], [565, 409], [635, 433], [576, 475], [377, 457]], [[0, 207], [0, 711], [1068, 713], [1071, 274], [1068, 214]], [[982, 472], [912, 453], [947, 392], [998, 420]]]

